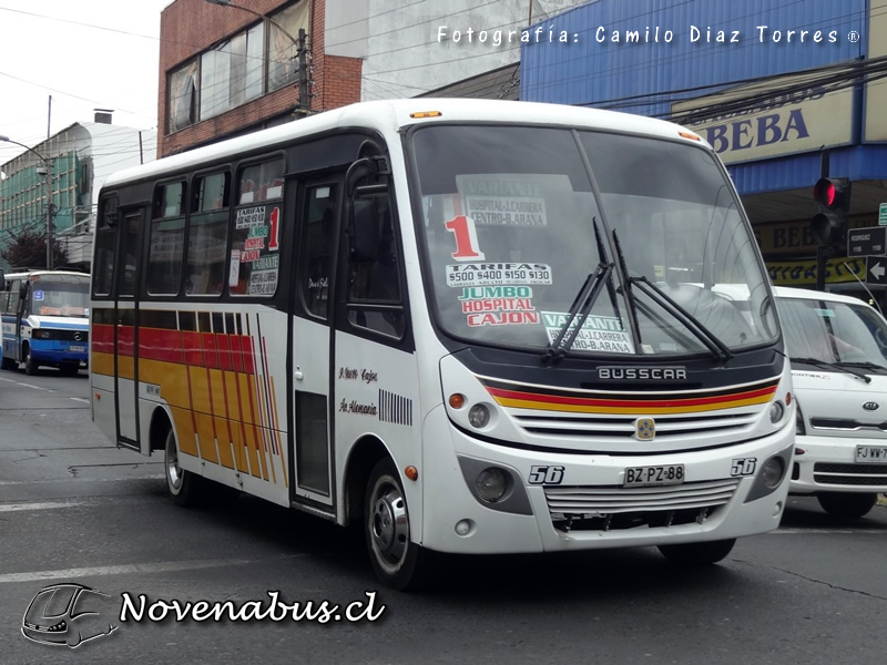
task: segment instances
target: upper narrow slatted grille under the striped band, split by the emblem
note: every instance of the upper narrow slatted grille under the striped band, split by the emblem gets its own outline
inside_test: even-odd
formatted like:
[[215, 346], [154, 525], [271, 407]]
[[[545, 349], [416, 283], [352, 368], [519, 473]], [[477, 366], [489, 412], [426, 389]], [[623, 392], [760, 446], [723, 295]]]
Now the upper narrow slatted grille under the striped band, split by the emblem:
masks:
[[[702, 413], [700, 416], [657, 415], [656, 440], [700, 437], [705, 434], [741, 433], [757, 419], [756, 412]], [[514, 420], [528, 433], [547, 437], [594, 438], [615, 441], [634, 438], [636, 416], [538, 416], [514, 413]]]

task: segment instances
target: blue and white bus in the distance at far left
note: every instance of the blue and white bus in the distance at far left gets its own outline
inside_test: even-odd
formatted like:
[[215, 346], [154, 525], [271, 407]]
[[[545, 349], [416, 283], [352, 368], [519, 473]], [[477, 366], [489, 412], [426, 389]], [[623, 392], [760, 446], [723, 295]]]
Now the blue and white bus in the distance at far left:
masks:
[[8, 273], [0, 290], [2, 369], [37, 374], [40, 366], [74, 375], [89, 360], [89, 284], [85, 273]]

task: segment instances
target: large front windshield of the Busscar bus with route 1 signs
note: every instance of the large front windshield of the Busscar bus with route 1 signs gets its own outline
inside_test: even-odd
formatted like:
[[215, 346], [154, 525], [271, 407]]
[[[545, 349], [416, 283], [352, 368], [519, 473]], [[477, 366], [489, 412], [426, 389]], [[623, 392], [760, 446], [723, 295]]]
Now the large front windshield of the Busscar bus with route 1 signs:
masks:
[[[755, 241], [701, 146], [435, 125], [414, 133], [411, 150], [426, 279], [453, 337], [543, 350], [578, 328], [570, 352], [605, 355], [728, 352], [775, 339]], [[624, 270], [606, 268], [620, 263]], [[605, 276], [592, 289], [595, 272]]]

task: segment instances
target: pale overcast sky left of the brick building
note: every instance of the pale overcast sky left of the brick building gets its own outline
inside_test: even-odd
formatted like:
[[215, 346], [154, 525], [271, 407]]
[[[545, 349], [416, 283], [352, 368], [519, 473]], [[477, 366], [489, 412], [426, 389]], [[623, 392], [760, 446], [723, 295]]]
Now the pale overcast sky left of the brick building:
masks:
[[[157, 126], [160, 12], [173, 0], [0, 0], [0, 134], [33, 146], [94, 109]], [[0, 142], [0, 164], [22, 149]]]

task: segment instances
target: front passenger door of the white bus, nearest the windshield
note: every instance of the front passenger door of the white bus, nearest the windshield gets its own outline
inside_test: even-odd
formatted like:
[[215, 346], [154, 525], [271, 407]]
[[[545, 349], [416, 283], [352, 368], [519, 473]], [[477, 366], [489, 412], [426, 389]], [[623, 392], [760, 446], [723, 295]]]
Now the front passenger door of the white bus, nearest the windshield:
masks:
[[298, 257], [290, 317], [292, 498], [334, 510], [332, 329], [341, 174], [314, 177], [287, 190], [295, 196], [286, 209], [296, 211], [294, 255]]

